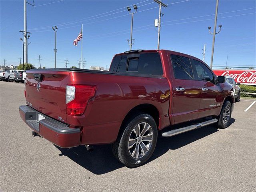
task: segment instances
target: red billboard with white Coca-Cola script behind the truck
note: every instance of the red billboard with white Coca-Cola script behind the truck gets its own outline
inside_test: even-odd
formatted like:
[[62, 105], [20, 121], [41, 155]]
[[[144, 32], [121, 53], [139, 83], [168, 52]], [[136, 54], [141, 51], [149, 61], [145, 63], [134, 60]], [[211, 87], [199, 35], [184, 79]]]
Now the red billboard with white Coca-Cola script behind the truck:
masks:
[[232, 76], [235, 82], [245, 85], [256, 85], [256, 70], [213, 70], [218, 75]]

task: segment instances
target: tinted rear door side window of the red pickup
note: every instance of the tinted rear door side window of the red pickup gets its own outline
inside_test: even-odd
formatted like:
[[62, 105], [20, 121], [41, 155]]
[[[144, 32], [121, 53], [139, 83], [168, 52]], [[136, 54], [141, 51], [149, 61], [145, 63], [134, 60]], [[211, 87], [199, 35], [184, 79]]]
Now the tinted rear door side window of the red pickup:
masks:
[[176, 79], [194, 79], [192, 65], [188, 57], [171, 55], [171, 59], [174, 77]]

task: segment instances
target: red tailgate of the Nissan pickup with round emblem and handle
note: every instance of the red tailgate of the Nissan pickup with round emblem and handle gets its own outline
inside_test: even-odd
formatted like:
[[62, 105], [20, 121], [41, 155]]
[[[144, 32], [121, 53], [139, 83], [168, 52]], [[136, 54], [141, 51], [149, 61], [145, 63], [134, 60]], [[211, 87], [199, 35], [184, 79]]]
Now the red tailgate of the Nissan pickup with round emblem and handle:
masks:
[[66, 84], [69, 73], [69, 71], [27, 71], [25, 85], [27, 105], [42, 114], [67, 123]]

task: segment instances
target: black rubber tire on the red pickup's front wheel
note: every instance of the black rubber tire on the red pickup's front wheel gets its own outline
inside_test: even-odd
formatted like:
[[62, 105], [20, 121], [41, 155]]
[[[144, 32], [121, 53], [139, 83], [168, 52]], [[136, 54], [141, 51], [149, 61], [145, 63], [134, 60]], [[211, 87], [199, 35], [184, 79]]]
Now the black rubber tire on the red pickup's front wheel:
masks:
[[[226, 108], [229, 109], [229, 118], [228, 120], [224, 120], [225, 117], [224, 115], [228, 115], [227, 111], [226, 111]], [[221, 109], [221, 112], [220, 112], [220, 115], [218, 116], [218, 128], [220, 129], [225, 129], [229, 126], [230, 124], [230, 119], [231, 119], [231, 114], [232, 114], [232, 105], [230, 103], [230, 101], [226, 101], [223, 106], [222, 106], [222, 109]]]

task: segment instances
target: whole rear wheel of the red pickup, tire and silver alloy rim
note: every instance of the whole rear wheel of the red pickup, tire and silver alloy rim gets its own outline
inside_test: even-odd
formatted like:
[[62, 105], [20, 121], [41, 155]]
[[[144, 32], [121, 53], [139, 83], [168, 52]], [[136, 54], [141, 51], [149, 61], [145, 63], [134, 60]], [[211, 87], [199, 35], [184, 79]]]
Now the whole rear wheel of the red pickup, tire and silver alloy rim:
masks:
[[154, 118], [137, 114], [124, 123], [121, 131], [112, 144], [114, 156], [128, 167], [144, 164], [156, 147], [158, 130]]

